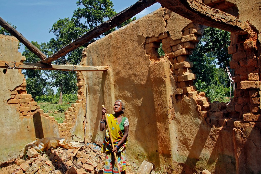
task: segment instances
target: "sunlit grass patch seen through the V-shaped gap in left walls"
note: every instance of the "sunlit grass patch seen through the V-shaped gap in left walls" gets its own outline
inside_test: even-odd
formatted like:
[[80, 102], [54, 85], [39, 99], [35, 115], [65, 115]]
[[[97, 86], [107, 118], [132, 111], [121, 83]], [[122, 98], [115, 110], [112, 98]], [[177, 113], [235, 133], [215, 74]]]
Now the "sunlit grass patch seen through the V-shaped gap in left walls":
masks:
[[[68, 103], [67, 102], [63, 103], [62, 106], [63, 108], [65, 108], [64, 111], [68, 109], [68, 107], [71, 107], [72, 103], [75, 103], [75, 100]], [[41, 109], [44, 110], [44, 113], [49, 113], [49, 116], [54, 117], [58, 123], [63, 123], [64, 112], [59, 112], [62, 111], [63, 109], [58, 109], [59, 111], [57, 111], [57, 108], [59, 108], [60, 105], [53, 104], [53, 103], [41, 103], [41, 102], [38, 102], [38, 105], [40, 106]]]

